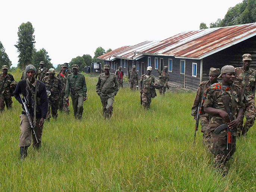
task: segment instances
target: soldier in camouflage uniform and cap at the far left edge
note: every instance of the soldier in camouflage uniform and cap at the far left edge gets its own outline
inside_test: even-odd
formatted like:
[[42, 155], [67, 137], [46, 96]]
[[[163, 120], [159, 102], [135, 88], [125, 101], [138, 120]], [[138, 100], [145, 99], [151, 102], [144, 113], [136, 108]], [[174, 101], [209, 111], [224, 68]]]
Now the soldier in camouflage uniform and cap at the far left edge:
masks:
[[10, 92], [15, 80], [13, 75], [8, 72], [7, 65], [2, 66], [3, 73], [0, 73], [0, 112], [4, 111], [6, 105], [7, 109], [12, 108], [12, 94]]

